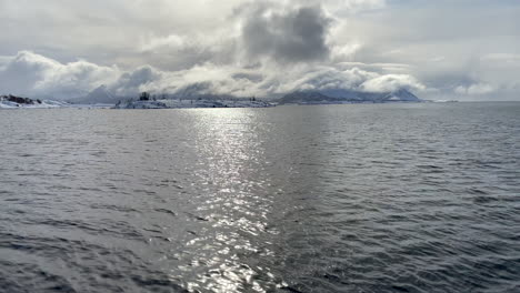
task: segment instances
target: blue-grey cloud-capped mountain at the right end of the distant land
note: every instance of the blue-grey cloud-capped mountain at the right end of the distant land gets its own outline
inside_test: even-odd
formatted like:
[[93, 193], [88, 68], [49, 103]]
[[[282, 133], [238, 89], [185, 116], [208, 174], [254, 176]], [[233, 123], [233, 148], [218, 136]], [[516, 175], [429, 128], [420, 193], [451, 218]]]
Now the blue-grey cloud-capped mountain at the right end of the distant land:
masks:
[[328, 89], [320, 91], [294, 91], [283, 95], [280, 104], [299, 103], [299, 104], [317, 104], [317, 103], [361, 103], [361, 102], [420, 102], [413, 93], [406, 89], [400, 89], [392, 92], [362, 92], [343, 89]]

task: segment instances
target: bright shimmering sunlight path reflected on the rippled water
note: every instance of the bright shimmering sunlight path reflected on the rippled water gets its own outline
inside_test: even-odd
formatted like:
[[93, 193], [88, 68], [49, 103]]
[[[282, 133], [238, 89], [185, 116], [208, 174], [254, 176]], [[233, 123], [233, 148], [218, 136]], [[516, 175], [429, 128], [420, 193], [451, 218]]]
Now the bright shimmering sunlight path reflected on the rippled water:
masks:
[[[208, 172], [203, 174], [208, 183], [203, 194], [207, 200], [197, 211], [208, 215], [209, 228], [203, 235], [187, 243], [192, 261], [183, 271], [190, 273], [193, 266], [202, 269], [192, 276], [192, 282], [187, 282], [190, 291], [266, 292], [256, 277], [261, 275], [263, 282], [276, 282], [269, 267], [251, 267], [240, 256], [273, 254], [269, 243], [258, 246], [243, 235], [259, 236], [266, 232], [272, 205], [272, 195], [266, 190], [269, 180], [261, 175], [264, 149], [254, 131], [256, 114], [248, 109], [232, 115], [219, 111], [193, 112], [198, 120], [194, 146], [201, 156], [208, 158]], [[214, 124], [216, 120], [219, 123]]]

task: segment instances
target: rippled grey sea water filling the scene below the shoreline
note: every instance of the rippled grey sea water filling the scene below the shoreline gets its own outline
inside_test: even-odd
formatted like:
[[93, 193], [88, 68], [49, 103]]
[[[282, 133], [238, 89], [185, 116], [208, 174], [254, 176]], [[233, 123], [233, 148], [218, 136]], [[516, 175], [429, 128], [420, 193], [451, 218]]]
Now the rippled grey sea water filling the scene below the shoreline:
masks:
[[0, 111], [0, 292], [520, 292], [520, 103]]

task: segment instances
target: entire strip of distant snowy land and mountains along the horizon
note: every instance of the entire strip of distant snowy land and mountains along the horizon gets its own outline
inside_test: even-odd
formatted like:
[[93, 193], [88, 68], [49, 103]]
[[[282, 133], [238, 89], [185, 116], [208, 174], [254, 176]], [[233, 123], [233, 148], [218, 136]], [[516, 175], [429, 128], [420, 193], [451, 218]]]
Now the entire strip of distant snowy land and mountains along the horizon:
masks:
[[0, 95], [0, 108], [69, 108], [106, 107], [113, 109], [179, 109], [179, 108], [269, 108], [281, 104], [346, 104], [427, 102], [407, 89], [389, 92], [364, 92], [344, 89], [299, 90], [274, 99], [239, 98], [227, 94], [152, 94], [142, 92], [137, 98], [111, 94], [102, 85], [83, 98], [68, 102]]

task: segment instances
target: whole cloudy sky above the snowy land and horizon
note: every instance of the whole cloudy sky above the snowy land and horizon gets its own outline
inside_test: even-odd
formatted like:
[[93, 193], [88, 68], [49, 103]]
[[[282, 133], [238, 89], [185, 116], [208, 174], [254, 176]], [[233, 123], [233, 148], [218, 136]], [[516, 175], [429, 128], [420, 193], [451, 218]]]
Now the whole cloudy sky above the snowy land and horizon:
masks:
[[520, 101], [517, 0], [0, 0], [0, 94]]

